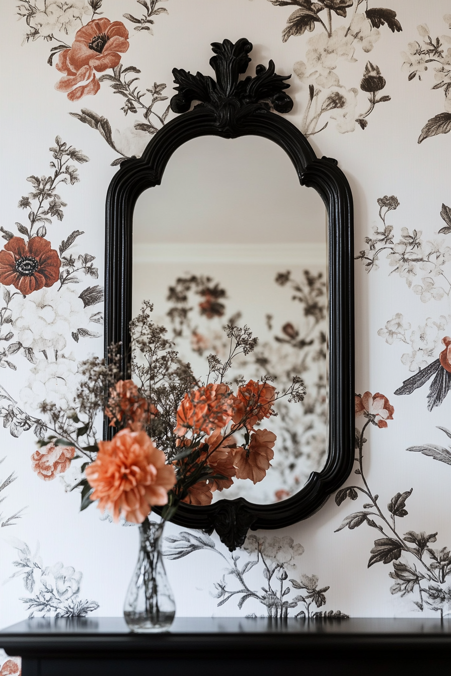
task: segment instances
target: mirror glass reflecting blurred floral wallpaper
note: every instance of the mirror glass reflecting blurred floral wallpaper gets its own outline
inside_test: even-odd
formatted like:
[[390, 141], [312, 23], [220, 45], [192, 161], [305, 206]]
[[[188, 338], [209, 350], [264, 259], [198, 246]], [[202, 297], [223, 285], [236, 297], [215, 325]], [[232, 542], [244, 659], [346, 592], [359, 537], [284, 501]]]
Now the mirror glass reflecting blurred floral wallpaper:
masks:
[[[269, 375], [278, 391], [302, 377], [303, 402], [275, 404], [260, 429], [277, 435], [266, 477], [234, 479], [214, 501], [257, 504], [299, 491], [327, 456], [329, 364], [327, 212], [301, 187], [286, 153], [260, 137], [201, 137], [168, 163], [133, 216], [133, 316], [143, 299], [181, 358], [205, 381], [210, 354], [227, 359], [227, 324], [247, 324], [258, 345], [227, 379]], [[239, 441], [241, 443], [241, 441]]]

